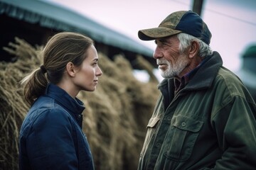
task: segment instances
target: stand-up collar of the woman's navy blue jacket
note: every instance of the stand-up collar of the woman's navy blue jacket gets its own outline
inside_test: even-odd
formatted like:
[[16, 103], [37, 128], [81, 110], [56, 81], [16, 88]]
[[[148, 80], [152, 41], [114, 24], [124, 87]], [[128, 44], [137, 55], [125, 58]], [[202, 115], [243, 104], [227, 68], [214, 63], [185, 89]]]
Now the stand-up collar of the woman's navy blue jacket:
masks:
[[63, 106], [63, 108], [66, 108], [68, 112], [73, 113], [74, 115], [81, 114], [85, 109], [82, 101], [78, 98], [72, 98], [66, 91], [54, 84], [48, 84], [46, 95], [54, 98], [61, 106]]

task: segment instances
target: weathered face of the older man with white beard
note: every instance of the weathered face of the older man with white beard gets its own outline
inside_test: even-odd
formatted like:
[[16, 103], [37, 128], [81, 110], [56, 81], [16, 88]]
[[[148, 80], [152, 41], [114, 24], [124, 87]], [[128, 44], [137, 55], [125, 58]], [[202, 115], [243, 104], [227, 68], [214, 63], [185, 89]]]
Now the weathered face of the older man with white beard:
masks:
[[179, 40], [176, 35], [168, 38], [158, 38], [155, 40], [156, 50], [154, 59], [159, 65], [161, 76], [164, 78], [182, 77], [189, 64], [187, 51], [181, 53], [179, 50]]

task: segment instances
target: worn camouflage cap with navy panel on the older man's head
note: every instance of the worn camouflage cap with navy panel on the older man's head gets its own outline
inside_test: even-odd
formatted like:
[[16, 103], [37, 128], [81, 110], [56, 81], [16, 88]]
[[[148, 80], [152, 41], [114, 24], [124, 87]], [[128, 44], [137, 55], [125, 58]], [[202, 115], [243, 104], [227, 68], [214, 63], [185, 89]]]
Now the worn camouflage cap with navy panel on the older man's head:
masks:
[[167, 16], [157, 28], [139, 30], [139, 39], [155, 40], [178, 33], [187, 33], [206, 44], [210, 44], [211, 33], [206, 23], [197, 13], [192, 11], [176, 11]]

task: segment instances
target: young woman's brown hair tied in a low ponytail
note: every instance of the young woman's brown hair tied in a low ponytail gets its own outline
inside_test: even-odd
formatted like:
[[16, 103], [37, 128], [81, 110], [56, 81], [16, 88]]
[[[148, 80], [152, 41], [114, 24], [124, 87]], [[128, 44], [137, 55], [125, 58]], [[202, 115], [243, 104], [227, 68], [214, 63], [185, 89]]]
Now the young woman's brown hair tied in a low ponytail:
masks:
[[32, 105], [44, 94], [49, 82], [57, 84], [68, 62], [79, 67], [87, 57], [90, 45], [94, 45], [93, 40], [79, 33], [62, 32], [50, 38], [42, 51], [43, 65], [21, 81], [26, 101]]

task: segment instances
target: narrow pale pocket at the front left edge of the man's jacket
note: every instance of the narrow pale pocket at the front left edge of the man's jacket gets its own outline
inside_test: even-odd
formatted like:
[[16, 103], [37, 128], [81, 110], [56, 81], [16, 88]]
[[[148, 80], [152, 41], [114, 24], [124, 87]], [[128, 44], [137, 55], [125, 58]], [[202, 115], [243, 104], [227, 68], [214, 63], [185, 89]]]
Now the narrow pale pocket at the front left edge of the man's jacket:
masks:
[[152, 117], [150, 118], [148, 125], [146, 125], [147, 132], [144, 140], [144, 145], [142, 147], [142, 152], [140, 154], [141, 157], [144, 155], [146, 148], [149, 147], [149, 142], [151, 140], [151, 137], [154, 135], [154, 132], [156, 131], [156, 125], [159, 120], [160, 118], [158, 117]]

